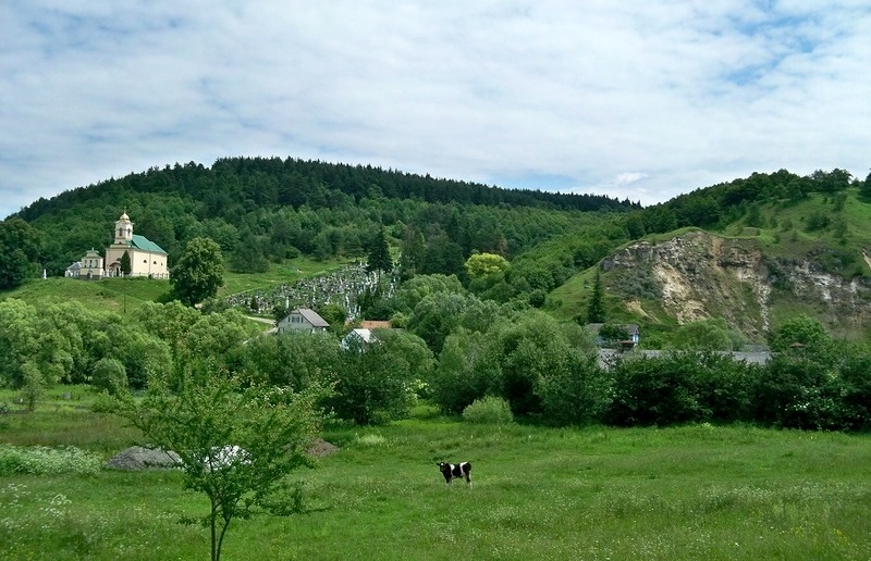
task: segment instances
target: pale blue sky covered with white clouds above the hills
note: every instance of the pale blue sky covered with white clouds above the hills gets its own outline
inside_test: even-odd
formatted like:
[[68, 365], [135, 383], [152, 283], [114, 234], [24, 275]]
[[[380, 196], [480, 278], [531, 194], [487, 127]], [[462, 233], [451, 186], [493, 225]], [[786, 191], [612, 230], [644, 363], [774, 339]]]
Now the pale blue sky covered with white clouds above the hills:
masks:
[[645, 205], [871, 170], [868, 0], [0, 3], [0, 219], [280, 157]]

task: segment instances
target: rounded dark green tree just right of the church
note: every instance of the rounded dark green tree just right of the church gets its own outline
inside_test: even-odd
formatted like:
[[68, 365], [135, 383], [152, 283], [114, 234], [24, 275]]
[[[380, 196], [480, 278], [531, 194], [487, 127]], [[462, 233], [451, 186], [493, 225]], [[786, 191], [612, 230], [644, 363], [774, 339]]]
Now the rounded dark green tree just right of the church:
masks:
[[170, 269], [172, 295], [185, 306], [195, 306], [218, 294], [223, 276], [220, 246], [210, 238], [194, 238]]

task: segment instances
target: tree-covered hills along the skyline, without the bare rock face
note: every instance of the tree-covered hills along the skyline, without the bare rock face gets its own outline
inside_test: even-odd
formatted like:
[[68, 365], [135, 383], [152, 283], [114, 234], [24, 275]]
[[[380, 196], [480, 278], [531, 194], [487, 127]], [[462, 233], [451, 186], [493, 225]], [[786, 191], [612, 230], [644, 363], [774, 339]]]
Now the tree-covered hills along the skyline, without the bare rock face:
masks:
[[[455, 274], [482, 298], [537, 307], [631, 240], [667, 239], [688, 226], [726, 236], [752, 230], [766, 262], [800, 260], [849, 279], [863, 264], [856, 260], [869, 200], [871, 178], [843, 170], [803, 177], [785, 170], [755, 173], [641, 209], [602, 196], [501, 189], [371, 166], [222, 159], [211, 167], [155, 167], [34, 202], [0, 224], [0, 262], [7, 264], [0, 289], [35, 278], [44, 267], [50, 276], [63, 275], [87, 250], [111, 242], [121, 212], [136, 234], [169, 252], [171, 264], [188, 240], [204, 236], [219, 244], [232, 271], [257, 273], [297, 255], [364, 259], [383, 235], [402, 255], [404, 278]], [[511, 267], [473, 283], [464, 265], [475, 252], [502, 255]], [[642, 276], [634, 273], [636, 280]], [[587, 280], [552, 308], [585, 316]]]

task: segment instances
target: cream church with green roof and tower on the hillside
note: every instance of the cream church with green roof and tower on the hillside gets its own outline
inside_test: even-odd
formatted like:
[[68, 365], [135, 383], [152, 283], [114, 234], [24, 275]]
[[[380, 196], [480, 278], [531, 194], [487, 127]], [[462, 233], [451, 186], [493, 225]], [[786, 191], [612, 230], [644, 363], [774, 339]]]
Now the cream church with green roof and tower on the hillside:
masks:
[[[170, 277], [167, 252], [145, 236], [134, 234], [126, 212], [115, 222], [113, 236], [114, 241], [106, 248], [106, 257], [91, 248], [82, 261], [66, 267], [66, 276], [95, 280], [107, 276]], [[122, 266], [124, 253], [130, 258], [127, 274]]]

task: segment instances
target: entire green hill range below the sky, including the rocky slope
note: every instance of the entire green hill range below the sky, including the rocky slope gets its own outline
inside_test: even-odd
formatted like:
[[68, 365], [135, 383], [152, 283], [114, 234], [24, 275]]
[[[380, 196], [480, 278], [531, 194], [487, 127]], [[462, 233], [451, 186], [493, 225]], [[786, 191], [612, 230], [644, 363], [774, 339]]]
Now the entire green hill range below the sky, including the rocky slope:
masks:
[[[170, 264], [187, 240], [214, 239], [230, 271], [222, 295], [230, 295], [365, 259], [381, 230], [402, 278], [454, 274], [480, 298], [543, 306], [566, 321], [586, 319], [598, 271], [608, 321], [638, 323], [648, 335], [722, 317], [761, 342], [781, 319], [801, 311], [858, 338], [871, 300], [862, 257], [869, 190], [871, 179], [843, 170], [805, 177], [781, 170], [641, 209], [604, 196], [237, 158], [151, 169], [40, 199], [0, 223], [0, 252], [15, 273], [4, 276], [15, 280], [8, 288], [44, 267], [60, 276], [85, 250], [106, 247], [123, 210], [138, 235], [168, 250]], [[19, 247], [26, 251], [16, 253]], [[511, 267], [469, 279], [464, 263], [475, 252], [503, 255]], [[54, 282], [0, 295], [41, 298], [44, 290], [118, 308], [165, 289], [128, 294], [107, 283]], [[372, 310], [390, 313], [389, 306]]]

